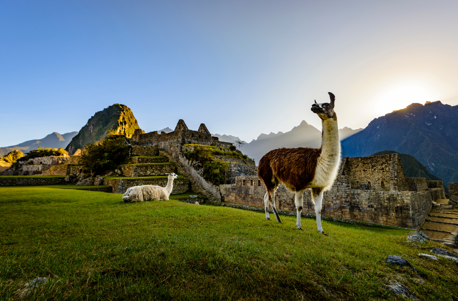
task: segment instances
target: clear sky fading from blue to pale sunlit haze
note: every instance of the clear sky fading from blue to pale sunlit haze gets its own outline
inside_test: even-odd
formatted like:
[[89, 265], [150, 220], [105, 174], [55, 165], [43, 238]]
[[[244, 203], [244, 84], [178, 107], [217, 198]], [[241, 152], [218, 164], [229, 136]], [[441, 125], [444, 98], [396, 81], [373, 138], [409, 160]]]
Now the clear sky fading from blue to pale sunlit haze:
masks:
[[339, 127], [458, 104], [456, 1], [2, 1], [0, 146], [129, 106], [251, 141], [336, 97]]

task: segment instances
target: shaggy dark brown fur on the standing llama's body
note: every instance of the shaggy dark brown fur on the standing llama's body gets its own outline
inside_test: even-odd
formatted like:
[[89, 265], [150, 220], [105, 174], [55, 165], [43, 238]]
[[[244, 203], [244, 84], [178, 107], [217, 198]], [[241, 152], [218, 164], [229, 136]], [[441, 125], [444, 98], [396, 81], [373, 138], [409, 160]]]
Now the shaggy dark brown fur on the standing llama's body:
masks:
[[[321, 148], [279, 148], [265, 154], [258, 165], [258, 176], [267, 191], [283, 183], [289, 190], [304, 190], [315, 176]], [[269, 196], [270, 200], [270, 196]]]

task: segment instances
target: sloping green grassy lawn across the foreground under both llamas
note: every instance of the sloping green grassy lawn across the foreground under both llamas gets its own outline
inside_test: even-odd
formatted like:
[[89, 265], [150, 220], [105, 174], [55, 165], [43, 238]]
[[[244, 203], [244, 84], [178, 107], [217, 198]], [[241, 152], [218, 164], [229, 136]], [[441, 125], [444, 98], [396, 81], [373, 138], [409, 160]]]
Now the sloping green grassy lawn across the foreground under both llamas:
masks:
[[[389, 279], [420, 300], [458, 300], [457, 265], [418, 257], [439, 245], [417, 249], [407, 230], [322, 221], [323, 236], [314, 219], [299, 231], [295, 217], [176, 200], [43, 186], [0, 195], [1, 300], [36, 277], [53, 279], [36, 300], [402, 300]], [[421, 275], [387, 266], [390, 254]]]

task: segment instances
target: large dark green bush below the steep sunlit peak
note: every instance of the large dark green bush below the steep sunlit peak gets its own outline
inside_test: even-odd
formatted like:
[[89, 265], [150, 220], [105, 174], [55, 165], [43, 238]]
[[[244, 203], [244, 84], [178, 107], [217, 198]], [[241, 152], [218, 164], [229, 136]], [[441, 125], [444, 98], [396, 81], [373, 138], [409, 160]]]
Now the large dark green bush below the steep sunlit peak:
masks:
[[80, 162], [93, 176], [95, 173], [114, 170], [128, 157], [129, 147], [124, 144], [123, 138], [106, 139], [98, 145], [86, 145]]

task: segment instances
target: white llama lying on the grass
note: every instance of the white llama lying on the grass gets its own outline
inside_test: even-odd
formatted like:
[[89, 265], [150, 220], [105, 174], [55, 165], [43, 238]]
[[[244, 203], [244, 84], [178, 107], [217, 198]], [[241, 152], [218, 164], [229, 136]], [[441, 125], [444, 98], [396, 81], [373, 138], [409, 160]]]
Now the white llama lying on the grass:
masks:
[[133, 186], [125, 191], [122, 200], [125, 202], [142, 202], [142, 201], [168, 201], [169, 195], [173, 189], [173, 180], [178, 178], [174, 173], [168, 175], [167, 186], [161, 187], [156, 185]]

